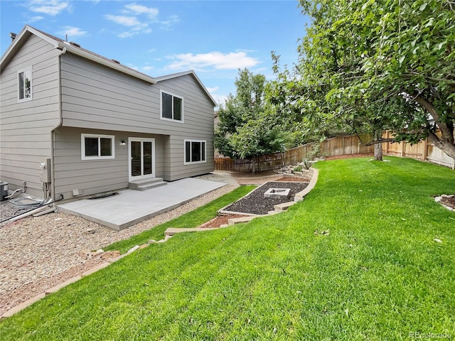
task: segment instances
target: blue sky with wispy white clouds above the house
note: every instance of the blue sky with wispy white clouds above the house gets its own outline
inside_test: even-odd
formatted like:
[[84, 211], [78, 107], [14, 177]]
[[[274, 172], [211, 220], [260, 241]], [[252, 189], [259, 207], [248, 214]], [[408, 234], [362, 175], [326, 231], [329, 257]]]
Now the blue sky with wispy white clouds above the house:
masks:
[[239, 68], [272, 79], [272, 50], [296, 63], [306, 22], [296, 0], [1, 0], [0, 48], [28, 24], [152, 77], [195, 70], [223, 103]]

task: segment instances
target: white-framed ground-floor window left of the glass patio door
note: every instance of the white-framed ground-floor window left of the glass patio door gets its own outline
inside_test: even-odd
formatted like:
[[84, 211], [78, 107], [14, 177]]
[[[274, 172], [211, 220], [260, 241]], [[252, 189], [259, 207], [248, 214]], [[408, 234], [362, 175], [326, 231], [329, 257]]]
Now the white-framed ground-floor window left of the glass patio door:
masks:
[[82, 134], [82, 160], [114, 158], [114, 136]]

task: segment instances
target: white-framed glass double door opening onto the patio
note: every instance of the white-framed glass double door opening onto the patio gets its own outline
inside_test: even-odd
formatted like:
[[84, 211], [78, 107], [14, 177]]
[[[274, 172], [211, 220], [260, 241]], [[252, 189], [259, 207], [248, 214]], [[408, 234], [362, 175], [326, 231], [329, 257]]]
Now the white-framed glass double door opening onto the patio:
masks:
[[129, 181], [155, 177], [155, 139], [128, 139]]

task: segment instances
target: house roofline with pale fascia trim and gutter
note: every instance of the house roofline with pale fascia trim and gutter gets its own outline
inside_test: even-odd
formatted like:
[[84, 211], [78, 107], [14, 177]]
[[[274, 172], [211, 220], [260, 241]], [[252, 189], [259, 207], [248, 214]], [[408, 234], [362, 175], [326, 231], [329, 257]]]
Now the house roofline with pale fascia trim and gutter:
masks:
[[161, 76], [161, 77], [151, 77], [149, 75], [146, 75], [145, 73], [134, 70], [131, 67], [122, 65], [122, 64], [118, 63], [117, 60], [112, 60], [112, 59], [103, 57], [102, 55], [98, 55], [97, 53], [94, 53], [90, 50], [81, 48], [79, 45], [74, 45], [74, 43], [69, 43], [68, 41], [57, 38], [55, 36], [50, 35], [49, 33], [45, 33], [43, 31], [40, 31], [40, 30], [33, 28], [31, 26], [28, 26], [28, 25], [24, 26], [21, 33], [18, 33], [16, 38], [13, 40], [13, 43], [11, 43], [11, 45], [9, 45], [9, 48], [6, 50], [4, 55], [1, 56], [0, 72], [4, 70], [6, 65], [9, 64], [9, 62], [14, 58], [14, 55], [16, 55], [17, 51], [22, 47], [23, 43], [25, 43], [27, 38], [30, 37], [32, 34], [47, 41], [48, 43], [53, 45], [55, 48], [62, 50], [63, 53], [69, 52], [69, 53], [73, 53], [75, 55], [79, 55], [82, 58], [87, 58], [89, 60], [92, 60], [95, 63], [105, 65], [114, 70], [126, 73], [127, 75], [131, 75], [133, 77], [139, 78], [140, 80], [144, 80], [145, 82], [149, 82], [151, 84], [156, 84], [157, 82], [162, 82], [164, 80], [171, 80], [172, 78], [181, 77], [184, 75], [192, 75], [194, 77], [194, 79], [196, 80], [196, 82], [198, 82], [198, 85], [203, 89], [205, 94], [207, 94], [207, 97], [210, 99], [210, 101], [213, 102], [214, 106], [218, 105], [215, 102], [215, 99], [213, 99], [213, 97], [210, 95], [210, 93], [204, 87], [202, 82], [200, 82], [198, 76], [196, 76], [196, 73], [193, 70], [178, 72], [178, 73], [174, 73], [172, 75], [166, 75], [166, 76]]

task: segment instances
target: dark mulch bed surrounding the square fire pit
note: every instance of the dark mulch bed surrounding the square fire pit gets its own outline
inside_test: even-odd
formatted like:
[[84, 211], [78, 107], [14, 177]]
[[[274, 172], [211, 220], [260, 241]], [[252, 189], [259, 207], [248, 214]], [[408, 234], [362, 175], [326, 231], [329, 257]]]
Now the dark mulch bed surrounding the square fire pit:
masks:
[[[293, 178], [294, 179], [294, 178]], [[267, 215], [269, 211], [274, 210], [274, 205], [284, 202], [294, 201], [296, 193], [301, 192], [308, 186], [308, 183], [303, 182], [283, 182], [270, 181], [261, 187], [257, 188], [249, 195], [242, 197], [239, 201], [225, 208], [225, 211], [250, 213], [252, 215]], [[290, 197], [264, 197], [264, 193], [269, 188], [291, 188]]]

